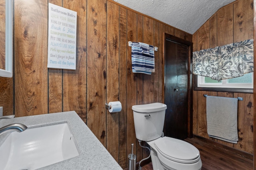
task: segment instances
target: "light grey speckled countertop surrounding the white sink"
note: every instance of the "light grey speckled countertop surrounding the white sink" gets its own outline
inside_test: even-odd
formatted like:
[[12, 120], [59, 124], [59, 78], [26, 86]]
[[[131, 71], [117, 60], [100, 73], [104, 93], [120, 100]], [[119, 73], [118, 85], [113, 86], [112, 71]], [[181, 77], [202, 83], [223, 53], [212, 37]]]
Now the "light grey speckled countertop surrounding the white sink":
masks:
[[[0, 119], [0, 127], [11, 123], [22, 123], [28, 129], [68, 123], [76, 142], [79, 156], [45, 166], [40, 168], [40, 170], [122, 170], [116, 160], [114, 160], [108, 150], [100, 143], [75, 111]], [[0, 145], [2, 145], [7, 136], [7, 132], [0, 135]]]

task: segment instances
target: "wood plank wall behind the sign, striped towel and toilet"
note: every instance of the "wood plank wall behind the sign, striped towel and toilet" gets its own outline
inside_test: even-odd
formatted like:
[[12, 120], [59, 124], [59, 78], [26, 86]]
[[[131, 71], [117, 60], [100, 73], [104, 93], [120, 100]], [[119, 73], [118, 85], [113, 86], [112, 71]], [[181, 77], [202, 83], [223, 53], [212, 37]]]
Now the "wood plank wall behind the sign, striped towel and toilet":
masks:
[[[48, 2], [77, 12], [76, 70], [47, 68]], [[15, 0], [14, 73], [0, 78], [0, 106], [16, 117], [74, 110], [122, 168], [135, 137], [132, 105], [163, 102], [164, 32], [192, 35], [112, 0]], [[134, 74], [128, 41], [159, 47], [156, 72]], [[105, 103], [120, 101], [110, 114]]]

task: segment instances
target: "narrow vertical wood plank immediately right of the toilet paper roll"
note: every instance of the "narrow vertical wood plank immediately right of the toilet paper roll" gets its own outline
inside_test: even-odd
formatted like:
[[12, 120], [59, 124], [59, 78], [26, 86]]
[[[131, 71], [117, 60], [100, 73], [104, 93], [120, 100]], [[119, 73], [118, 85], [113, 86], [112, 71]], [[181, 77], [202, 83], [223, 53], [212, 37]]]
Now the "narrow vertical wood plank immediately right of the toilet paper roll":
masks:
[[126, 35], [126, 9], [120, 7], [120, 43], [119, 43], [119, 100], [122, 103], [122, 110], [119, 112], [119, 164], [122, 168], [127, 167], [126, 151], [126, 116], [127, 116], [127, 35]]

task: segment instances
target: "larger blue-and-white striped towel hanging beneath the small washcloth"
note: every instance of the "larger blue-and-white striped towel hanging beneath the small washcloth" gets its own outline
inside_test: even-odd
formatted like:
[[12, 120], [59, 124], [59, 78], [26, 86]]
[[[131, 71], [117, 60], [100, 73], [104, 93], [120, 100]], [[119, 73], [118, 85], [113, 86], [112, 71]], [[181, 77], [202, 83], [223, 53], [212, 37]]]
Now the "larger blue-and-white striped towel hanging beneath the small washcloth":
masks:
[[151, 74], [155, 72], [154, 47], [149, 45], [149, 54], [142, 53], [140, 43], [132, 42], [132, 72]]

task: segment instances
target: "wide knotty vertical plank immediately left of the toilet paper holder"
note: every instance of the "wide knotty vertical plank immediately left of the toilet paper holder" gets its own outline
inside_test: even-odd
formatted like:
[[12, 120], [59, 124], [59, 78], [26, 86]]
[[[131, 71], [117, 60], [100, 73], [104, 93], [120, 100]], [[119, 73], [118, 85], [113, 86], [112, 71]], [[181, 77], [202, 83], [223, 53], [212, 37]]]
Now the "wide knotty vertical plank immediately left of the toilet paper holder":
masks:
[[106, 147], [106, 0], [87, 9], [87, 125]]

